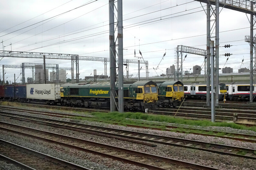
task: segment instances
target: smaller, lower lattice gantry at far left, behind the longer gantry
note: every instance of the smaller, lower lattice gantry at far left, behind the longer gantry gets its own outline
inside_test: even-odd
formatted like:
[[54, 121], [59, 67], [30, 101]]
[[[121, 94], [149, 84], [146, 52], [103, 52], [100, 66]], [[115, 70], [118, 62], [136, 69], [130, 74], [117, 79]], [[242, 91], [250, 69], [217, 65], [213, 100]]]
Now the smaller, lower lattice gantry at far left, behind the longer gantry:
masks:
[[[42, 63], [22, 63], [21, 65], [3, 65], [3, 82], [4, 82], [4, 73], [5, 68], [19, 68], [22, 69], [22, 83], [25, 85], [25, 69], [30, 68], [32, 69], [32, 79], [34, 82], [34, 68], [38, 65], [43, 66]], [[59, 70], [72, 70], [70, 67], [59, 67], [59, 64], [45, 64], [45, 68], [47, 69], [56, 69], [56, 79], [57, 83], [59, 83]]]

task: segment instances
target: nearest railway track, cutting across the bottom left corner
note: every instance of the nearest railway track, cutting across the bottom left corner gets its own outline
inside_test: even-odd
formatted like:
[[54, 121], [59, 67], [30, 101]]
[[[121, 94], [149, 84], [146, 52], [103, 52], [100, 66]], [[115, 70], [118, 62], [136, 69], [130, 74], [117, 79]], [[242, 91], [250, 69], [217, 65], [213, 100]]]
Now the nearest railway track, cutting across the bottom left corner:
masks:
[[91, 170], [0, 139], [0, 159], [25, 170]]

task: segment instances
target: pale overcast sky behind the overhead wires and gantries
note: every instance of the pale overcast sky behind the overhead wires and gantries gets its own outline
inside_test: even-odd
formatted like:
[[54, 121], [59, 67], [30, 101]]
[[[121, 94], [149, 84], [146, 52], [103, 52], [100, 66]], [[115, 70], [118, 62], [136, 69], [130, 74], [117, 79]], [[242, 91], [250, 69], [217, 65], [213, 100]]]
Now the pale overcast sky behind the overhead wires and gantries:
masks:
[[[84, 6], [80, 7], [81, 5]], [[136, 56], [140, 56], [140, 50], [144, 60], [149, 62], [149, 76], [157, 76], [165, 74], [166, 68], [172, 64], [176, 65], [177, 45], [206, 49], [206, 4], [202, 5], [204, 8], [200, 2], [194, 0], [123, 0], [123, 58], [137, 60], [134, 49]], [[72, 11], [67, 12], [69, 10]], [[250, 46], [248, 42], [244, 42], [244, 37], [250, 35], [250, 23], [246, 14], [222, 8], [220, 11], [220, 46], [232, 46], [220, 47], [219, 68], [223, 68], [226, 63], [227, 57], [222, 56], [225, 53], [233, 54], [225, 67], [232, 67], [234, 72], [238, 72], [240, 67], [249, 68]], [[62, 14], [63, 12], [66, 13]], [[3, 41], [0, 43], [0, 50], [5, 46], [4, 50], [12, 51], [109, 58], [108, 14], [107, 0], [0, 1], [0, 41]], [[161, 61], [165, 52], [166, 55]], [[244, 64], [241, 64], [243, 59]], [[187, 54], [183, 70], [191, 68], [192, 71], [194, 65], [203, 66], [203, 62], [202, 56]], [[43, 60], [3, 58], [0, 61], [1, 80], [3, 64], [21, 63], [43, 63]], [[46, 60], [46, 63], [71, 67], [69, 60]], [[156, 68], [158, 64], [159, 69], [155, 71], [153, 67]], [[109, 63], [107, 67], [109, 75]], [[145, 76], [144, 67], [142, 65], [141, 76]], [[93, 75], [94, 69], [97, 69], [98, 75], [104, 75], [102, 62], [79, 61], [79, 68], [80, 78], [91, 73]], [[14, 73], [17, 78], [21, 70], [7, 68], [5, 72], [5, 78], [14, 81]], [[137, 72], [137, 64], [130, 64], [129, 74], [135, 77]], [[67, 73], [70, 78], [71, 73]], [[204, 69], [201, 73], [204, 74]], [[32, 77], [32, 71], [26, 69], [25, 77]], [[19, 80], [20, 78], [17, 81]]]

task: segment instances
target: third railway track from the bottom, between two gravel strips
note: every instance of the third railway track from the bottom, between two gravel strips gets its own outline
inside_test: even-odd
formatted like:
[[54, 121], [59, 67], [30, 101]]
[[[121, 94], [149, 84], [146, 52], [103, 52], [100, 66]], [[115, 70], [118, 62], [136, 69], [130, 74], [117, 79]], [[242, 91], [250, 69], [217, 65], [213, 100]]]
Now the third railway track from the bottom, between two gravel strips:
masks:
[[[94, 126], [94, 125], [88, 125], [88, 124], [58, 121], [58, 120], [31, 117], [31, 116], [22, 116], [22, 115], [17, 116], [14, 114], [12, 116], [9, 115], [8, 117], [10, 117], [11, 119], [17, 119], [20, 121], [28, 121], [28, 122], [42, 124], [42, 125], [51, 126], [51, 127], [64, 128], [64, 129], [83, 132], [83, 133], [100, 135], [108, 138], [121, 138], [121, 140], [130, 141], [130, 142], [133, 142], [136, 140], [145, 141], [145, 142], [151, 142], [155, 144], [165, 144], [165, 145], [172, 145], [172, 146], [182, 147], [182, 148], [197, 149], [202, 151], [218, 153], [222, 155], [256, 159], [255, 149], [240, 148], [240, 147], [228, 146], [223, 144], [194, 141], [194, 140], [188, 140], [188, 139], [182, 139], [182, 138], [160, 136], [156, 134], [147, 134], [147, 133], [141, 133], [141, 132], [135, 132], [135, 131], [119, 130], [119, 129], [113, 129], [109, 127], [100, 127], [100, 126]], [[0, 124], [1, 123], [2, 122], [0, 122]], [[140, 142], [139, 144], [144, 144], [144, 143]], [[153, 144], [147, 144], [147, 145], [156, 146]]]

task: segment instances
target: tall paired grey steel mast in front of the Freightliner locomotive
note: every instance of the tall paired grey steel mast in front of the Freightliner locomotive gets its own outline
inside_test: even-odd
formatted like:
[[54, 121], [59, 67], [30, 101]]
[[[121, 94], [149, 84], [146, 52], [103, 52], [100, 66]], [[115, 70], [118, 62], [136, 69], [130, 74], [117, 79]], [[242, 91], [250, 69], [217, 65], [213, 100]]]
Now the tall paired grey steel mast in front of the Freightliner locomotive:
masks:
[[[115, 15], [115, 13], [117, 15]], [[117, 18], [116, 18], [117, 16]], [[115, 22], [115, 20], [117, 22]], [[115, 23], [117, 28], [118, 45], [115, 43]], [[118, 46], [118, 50], [116, 50]], [[116, 107], [120, 113], [123, 113], [123, 1], [109, 0], [109, 47], [110, 47], [110, 111], [115, 111]], [[116, 60], [118, 58], [118, 61]], [[116, 67], [116, 62], [118, 67]], [[118, 69], [118, 76], [116, 75]], [[118, 82], [115, 83], [116, 77]], [[118, 85], [118, 94], [115, 87]], [[118, 106], [116, 105], [116, 96], [118, 96]]]

